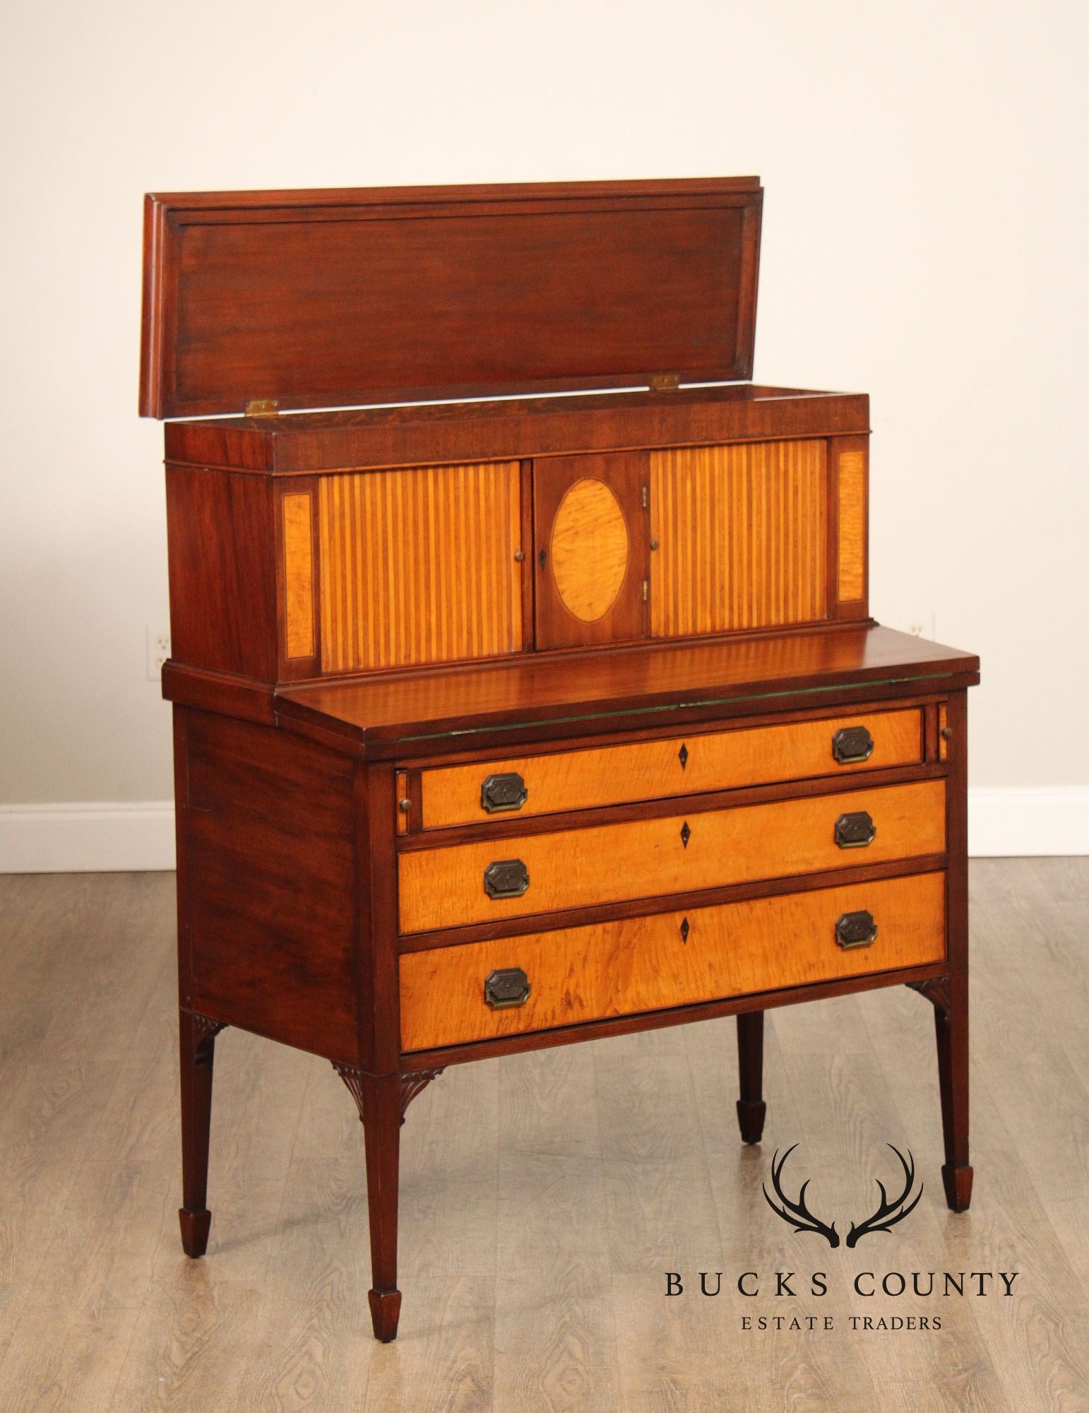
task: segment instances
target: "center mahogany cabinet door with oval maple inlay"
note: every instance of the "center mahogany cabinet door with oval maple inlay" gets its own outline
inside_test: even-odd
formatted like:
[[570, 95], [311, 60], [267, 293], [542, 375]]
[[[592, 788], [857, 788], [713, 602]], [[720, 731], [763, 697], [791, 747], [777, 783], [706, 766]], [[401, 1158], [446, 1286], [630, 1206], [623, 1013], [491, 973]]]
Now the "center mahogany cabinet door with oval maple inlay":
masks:
[[534, 462], [538, 649], [647, 637], [647, 452]]

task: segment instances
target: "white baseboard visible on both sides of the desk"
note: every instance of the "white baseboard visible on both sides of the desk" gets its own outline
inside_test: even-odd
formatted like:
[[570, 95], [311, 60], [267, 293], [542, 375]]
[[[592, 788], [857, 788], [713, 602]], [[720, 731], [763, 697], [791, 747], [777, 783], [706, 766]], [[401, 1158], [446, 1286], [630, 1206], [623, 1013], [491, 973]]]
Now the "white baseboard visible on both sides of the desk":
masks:
[[[977, 786], [968, 793], [973, 858], [1089, 853], [1089, 786]], [[174, 868], [174, 804], [0, 805], [0, 873]]]

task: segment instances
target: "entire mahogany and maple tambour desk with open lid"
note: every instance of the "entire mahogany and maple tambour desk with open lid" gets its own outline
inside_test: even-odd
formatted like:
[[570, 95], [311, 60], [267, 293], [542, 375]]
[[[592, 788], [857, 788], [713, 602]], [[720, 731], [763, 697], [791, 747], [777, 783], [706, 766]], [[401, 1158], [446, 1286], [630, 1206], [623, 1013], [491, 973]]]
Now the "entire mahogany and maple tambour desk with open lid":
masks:
[[867, 398], [746, 382], [761, 196], [147, 199], [182, 1243], [216, 1034], [322, 1056], [380, 1340], [401, 1123], [451, 1064], [734, 1015], [754, 1143], [764, 1012], [905, 983], [968, 1207], [979, 663], [870, 617]]

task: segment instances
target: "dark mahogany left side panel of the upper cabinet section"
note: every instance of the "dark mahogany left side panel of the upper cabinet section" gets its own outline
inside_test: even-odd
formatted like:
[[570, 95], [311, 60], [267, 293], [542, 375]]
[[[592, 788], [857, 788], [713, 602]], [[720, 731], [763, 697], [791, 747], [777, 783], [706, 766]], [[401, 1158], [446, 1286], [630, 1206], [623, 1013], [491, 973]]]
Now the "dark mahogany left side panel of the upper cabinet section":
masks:
[[270, 483], [167, 468], [171, 653], [191, 667], [275, 681]]

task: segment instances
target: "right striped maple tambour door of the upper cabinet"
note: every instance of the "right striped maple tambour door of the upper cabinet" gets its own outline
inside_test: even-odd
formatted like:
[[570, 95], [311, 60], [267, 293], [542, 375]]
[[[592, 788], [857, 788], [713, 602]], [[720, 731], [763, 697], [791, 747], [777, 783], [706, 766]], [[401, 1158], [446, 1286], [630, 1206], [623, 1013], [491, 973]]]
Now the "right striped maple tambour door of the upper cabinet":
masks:
[[822, 439], [651, 452], [653, 637], [826, 616], [826, 455]]

